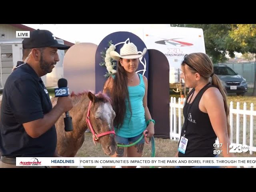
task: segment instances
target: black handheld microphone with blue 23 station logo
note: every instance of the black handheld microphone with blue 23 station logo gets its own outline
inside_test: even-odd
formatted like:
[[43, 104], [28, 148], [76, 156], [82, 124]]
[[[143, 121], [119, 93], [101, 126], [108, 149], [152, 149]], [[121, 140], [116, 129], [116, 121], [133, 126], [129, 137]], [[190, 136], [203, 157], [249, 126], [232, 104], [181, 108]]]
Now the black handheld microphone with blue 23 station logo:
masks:
[[[60, 78], [58, 80], [58, 88], [54, 89], [55, 97], [65, 97], [69, 96], [69, 89], [68, 89], [68, 81], [64, 78]], [[66, 117], [64, 118], [65, 123], [65, 131], [72, 131], [73, 124], [72, 124], [72, 117], [69, 116], [69, 112], [65, 112]]]

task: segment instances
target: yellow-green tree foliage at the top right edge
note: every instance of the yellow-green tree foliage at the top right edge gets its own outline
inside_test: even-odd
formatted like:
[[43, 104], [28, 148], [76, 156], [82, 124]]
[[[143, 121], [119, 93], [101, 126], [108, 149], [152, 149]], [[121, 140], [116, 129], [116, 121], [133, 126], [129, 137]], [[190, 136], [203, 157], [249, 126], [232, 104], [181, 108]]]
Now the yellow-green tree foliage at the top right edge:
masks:
[[[237, 24], [237, 26], [230, 31], [229, 35], [234, 42], [240, 44], [242, 52], [255, 54], [256, 64], [256, 24]], [[256, 70], [252, 96], [256, 96]]]

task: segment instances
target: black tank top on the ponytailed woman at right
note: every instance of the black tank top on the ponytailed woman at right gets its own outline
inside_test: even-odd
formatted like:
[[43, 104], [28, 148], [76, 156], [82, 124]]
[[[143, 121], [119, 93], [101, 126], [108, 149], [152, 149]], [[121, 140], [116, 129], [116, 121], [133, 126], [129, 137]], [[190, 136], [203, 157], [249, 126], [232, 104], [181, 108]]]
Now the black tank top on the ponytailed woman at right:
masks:
[[[188, 104], [194, 94], [193, 88], [188, 94], [186, 104], [183, 107], [184, 124], [181, 130], [181, 136], [188, 139], [185, 154], [179, 152], [179, 157], [214, 157], [213, 154], [215, 140], [217, 138], [210, 118], [207, 113], [199, 109], [199, 102], [204, 92], [210, 88], [216, 87], [206, 84], [196, 95], [191, 104]], [[191, 96], [192, 95], [192, 96]], [[191, 97], [190, 97], [191, 96]]]

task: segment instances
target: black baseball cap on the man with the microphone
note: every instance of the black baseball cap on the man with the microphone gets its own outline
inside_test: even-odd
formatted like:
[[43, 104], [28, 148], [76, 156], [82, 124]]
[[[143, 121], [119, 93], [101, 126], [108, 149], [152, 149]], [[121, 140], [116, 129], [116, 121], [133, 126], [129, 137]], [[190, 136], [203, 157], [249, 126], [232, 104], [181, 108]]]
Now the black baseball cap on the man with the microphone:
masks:
[[30, 32], [30, 38], [24, 38], [22, 41], [24, 49], [41, 48], [41, 47], [56, 47], [60, 50], [70, 48], [68, 45], [59, 44], [55, 36], [48, 30], [34, 30]]

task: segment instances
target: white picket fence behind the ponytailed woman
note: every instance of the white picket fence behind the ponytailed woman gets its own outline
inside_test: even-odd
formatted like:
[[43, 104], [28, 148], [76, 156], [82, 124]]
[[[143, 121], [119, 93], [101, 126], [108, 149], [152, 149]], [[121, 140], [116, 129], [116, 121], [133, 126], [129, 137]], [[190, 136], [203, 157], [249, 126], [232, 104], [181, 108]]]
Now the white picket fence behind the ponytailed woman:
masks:
[[[185, 102], [183, 99], [183, 103]], [[181, 128], [184, 123], [184, 116], [182, 113], [183, 103], [181, 98], [178, 98], [178, 103], [176, 102], [175, 97], [171, 97], [170, 101], [170, 139], [179, 140], [181, 134]], [[177, 111], [178, 109], [178, 117]], [[236, 116], [234, 120], [233, 116]], [[243, 116], [243, 127], [242, 127], [242, 141], [240, 141], [240, 118]], [[246, 137], [248, 136], [247, 132], [247, 117], [249, 116], [249, 142], [247, 142]], [[240, 109], [240, 102], [237, 102], [236, 109], [233, 108], [233, 102], [230, 102], [230, 142], [231, 144], [246, 144], [249, 146], [250, 154], [256, 152], [256, 146], [254, 146], [254, 116], [256, 116], [256, 111], [254, 111], [254, 104], [250, 104], [250, 110], [247, 110], [246, 102], [243, 104], [243, 109]], [[182, 120], [183, 119], [183, 120]], [[234, 126], [236, 122], [236, 127]], [[234, 130], [236, 130], [236, 141], [234, 142]], [[256, 138], [255, 138], [256, 139]], [[218, 139], [217, 139], [218, 141]]]

